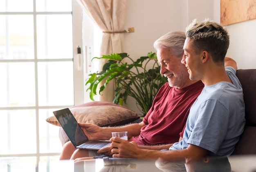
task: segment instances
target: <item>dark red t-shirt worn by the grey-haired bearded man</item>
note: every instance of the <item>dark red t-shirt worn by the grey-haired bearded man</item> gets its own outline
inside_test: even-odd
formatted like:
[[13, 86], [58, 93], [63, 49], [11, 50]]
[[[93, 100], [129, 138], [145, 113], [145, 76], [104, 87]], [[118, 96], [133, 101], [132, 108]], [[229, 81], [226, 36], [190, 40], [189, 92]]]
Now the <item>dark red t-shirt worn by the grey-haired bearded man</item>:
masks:
[[153, 105], [143, 119], [146, 126], [140, 135], [132, 137], [138, 145], [171, 144], [179, 141], [189, 115], [189, 109], [201, 93], [204, 84], [198, 81], [177, 89], [165, 83], [157, 92]]

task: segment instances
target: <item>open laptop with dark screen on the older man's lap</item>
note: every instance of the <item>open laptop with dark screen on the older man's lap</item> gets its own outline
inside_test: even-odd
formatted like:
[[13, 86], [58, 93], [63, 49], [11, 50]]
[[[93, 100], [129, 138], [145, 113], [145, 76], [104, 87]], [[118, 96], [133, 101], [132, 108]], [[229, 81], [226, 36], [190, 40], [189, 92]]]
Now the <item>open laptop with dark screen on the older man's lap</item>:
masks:
[[54, 111], [53, 114], [61, 124], [63, 130], [75, 148], [99, 150], [106, 146], [110, 146], [111, 142], [109, 141], [89, 140], [85, 133], [83, 133], [82, 128], [77, 123], [70, 109], [66, 108]]

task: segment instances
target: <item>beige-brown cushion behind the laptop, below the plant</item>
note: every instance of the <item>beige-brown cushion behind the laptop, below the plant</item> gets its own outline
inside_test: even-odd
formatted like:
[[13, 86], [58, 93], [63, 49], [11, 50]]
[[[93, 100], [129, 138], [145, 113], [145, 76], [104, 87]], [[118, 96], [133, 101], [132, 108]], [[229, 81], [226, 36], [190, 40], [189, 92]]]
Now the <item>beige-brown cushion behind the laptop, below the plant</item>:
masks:
[[[126, 107], [111, 102], [88, 102], [69, 108], [77, 122], [98, 126], [118, 126], [139, 119], [139, 115]], [[61, 126], [54, 115], [46, 119], [50, 124]]]

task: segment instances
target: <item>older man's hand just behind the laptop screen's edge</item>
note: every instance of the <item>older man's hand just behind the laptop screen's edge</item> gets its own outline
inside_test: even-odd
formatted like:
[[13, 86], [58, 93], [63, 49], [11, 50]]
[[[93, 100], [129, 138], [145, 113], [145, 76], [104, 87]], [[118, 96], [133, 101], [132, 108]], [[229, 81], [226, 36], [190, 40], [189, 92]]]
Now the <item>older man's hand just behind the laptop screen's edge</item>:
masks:
[[83, 133], [85, 133], [86, 137], [88, 137], [89, 140], [101, 140], [102, 139], [102, 133], [101, 133], [101, 127], [89, 124], [89, 123], [78, 123], [79, 126], [81, 126]]

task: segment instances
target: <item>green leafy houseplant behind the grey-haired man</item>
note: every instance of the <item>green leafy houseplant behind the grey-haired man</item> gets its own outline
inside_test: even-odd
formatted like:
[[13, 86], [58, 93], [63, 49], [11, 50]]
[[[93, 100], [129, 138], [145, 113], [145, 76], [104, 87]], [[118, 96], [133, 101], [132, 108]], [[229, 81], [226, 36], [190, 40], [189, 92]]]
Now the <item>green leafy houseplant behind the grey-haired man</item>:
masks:
[[[140, 57], [137, 61], [132, 60], [127, 53], [103, 55], [94, 57], [108, 59], [101, 72], [89, 75], [85, 85], [90, 85], [90, 99], [97, 94], [97, 86], [102, 81], [99, 94], [110, 81], [115, 81], [115, 104], [126, 103], [128, 96], [135, 98], [143, 115], [150, 109], [153, 99], [159, 88], [166, 83], [166, 78], [160, 74], [160, 66], [157, 63], [155, 53], [149, 52], [148, 56]], [[93, 59], [94, 59], [93, 58]], [[130, 61], [124, 62], [124, 61]]]

